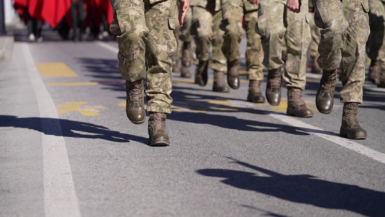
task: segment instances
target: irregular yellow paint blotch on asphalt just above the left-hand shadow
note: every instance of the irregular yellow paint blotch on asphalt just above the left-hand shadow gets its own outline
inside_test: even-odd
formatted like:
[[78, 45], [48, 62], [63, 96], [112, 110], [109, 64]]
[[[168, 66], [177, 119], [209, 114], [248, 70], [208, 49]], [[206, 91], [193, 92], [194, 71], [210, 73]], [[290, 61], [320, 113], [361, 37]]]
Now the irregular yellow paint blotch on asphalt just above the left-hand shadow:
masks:
[[78, 112], [83, 116], [98, 116], [98, 109], [106, 109], [103, 106], [89, 106], [88, 102], [66, 102], [64, 105], [57, 105], [57, 114], [64, 115], [69, 112]]

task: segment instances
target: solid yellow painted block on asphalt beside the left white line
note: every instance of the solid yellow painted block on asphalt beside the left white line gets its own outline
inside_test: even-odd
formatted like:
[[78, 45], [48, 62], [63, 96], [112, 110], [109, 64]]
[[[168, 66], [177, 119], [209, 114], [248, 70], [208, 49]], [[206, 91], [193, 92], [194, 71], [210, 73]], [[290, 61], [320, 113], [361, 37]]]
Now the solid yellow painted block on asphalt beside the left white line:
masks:
[[36, 63], [36, 68], [43, 78], [77, 77], [77, 74], [64, 63]]

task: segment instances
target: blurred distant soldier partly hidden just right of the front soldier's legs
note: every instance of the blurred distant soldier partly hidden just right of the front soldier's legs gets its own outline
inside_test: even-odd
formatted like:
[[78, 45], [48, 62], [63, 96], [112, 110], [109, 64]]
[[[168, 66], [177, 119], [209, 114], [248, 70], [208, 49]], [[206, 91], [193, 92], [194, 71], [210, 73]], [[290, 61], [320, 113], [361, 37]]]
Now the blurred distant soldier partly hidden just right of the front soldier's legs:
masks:
[[[176, 5], [176, 11], [179, 13], [179, 3]], [[189, 71], [192, 54], [192, 36], [190, 34], [191, 22], [192, 10], [188, 10], [186, 17], [184, 17], [182, 27], [177, 23], [174, 29], [174, 36], [176, 37], [178, 48], [176, 53], [171, 56], [172, 72], [180, 71], [182, 78], [191, 78], [191, 73]], [[179, 67], [178, 62], [181, 54], [182, 67]]]

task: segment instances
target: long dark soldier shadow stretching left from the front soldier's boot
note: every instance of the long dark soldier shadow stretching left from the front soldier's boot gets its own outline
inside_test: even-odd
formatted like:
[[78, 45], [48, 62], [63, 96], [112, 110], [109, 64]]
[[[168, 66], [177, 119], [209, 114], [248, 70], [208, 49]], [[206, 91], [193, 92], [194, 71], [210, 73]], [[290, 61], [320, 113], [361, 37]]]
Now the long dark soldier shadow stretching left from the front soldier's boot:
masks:
[[[55, 125], [57, 121], [60, 122], [62, 132], [42, 128], [44, 125]], [[0, 115], [0, 127], [15, 127], [32, 129], [42, 132], [46, 135], [64, 136], [72, 138], [85, 138], [85, 139], [103, 139], [111, 142], [130, 142], [136, 141], [143, 144], [147, 144], [148, 138], [141, 136], [134, 136], [130, 134], [124, 134], [118, 131], [112, 131], [107, 127], [100, 125], [65, 120], [65, 119], [53, 119], [53, 118], [40, 118], [40, 117], [17, 117], [12, 115]], [[77, 132], [82, 133], [77, 133]], [[93, 134], [93, 135], [90, 135]], [[149, 145], [149, 144], [147, 144]]]

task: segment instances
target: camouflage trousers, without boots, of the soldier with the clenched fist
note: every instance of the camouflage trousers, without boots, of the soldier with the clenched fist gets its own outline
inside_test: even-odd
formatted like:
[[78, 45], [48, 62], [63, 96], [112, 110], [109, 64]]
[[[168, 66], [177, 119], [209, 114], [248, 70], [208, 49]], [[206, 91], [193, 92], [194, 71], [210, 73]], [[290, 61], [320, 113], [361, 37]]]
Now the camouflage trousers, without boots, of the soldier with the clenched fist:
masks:
[[300, 13], [286, 8], [286, 0], [261, 0], [259, 22], [255, 31], [261, 35], [264, 51], [264, 65], [269, 70], [281, 68], [284, 40], [287, 60], [283, 73], [286, 87], [305, 89], [306, 58], [310, 43], [308, 1], [301, 1]]

